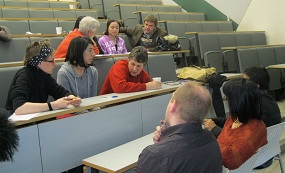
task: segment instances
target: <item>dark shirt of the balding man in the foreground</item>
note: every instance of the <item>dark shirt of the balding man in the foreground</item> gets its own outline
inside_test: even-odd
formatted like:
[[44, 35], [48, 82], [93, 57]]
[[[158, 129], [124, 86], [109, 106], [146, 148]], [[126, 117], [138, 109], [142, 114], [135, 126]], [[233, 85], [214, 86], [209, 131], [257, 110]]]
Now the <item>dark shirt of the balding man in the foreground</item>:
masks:
[[142, 151], [134, 172], [221, 173], [222, 156], [216, 138], [201, 124], [180, 124], [162, 131], [162, 140]]

